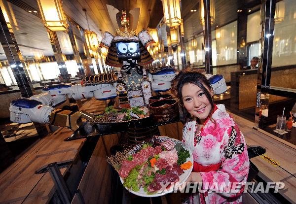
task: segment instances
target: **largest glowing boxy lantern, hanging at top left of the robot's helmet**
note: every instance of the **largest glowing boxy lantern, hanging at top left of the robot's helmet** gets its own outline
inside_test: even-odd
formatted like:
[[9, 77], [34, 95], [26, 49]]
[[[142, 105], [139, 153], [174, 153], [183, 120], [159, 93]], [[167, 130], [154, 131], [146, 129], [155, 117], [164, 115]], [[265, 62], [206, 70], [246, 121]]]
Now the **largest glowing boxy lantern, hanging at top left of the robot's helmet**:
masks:
[[51, 31], [67, 31], [66, 17], [60, 0], [37, 0], [43, 23]]

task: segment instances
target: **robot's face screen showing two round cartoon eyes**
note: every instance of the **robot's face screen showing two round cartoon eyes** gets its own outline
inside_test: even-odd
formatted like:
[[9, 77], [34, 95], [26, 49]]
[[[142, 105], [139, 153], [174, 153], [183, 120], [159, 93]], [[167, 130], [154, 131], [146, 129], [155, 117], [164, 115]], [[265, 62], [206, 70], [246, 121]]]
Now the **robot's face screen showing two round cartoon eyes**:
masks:
[[116, 42], [116, 47], [119, 60], [140, 59], [139, 42], [119, 41]]

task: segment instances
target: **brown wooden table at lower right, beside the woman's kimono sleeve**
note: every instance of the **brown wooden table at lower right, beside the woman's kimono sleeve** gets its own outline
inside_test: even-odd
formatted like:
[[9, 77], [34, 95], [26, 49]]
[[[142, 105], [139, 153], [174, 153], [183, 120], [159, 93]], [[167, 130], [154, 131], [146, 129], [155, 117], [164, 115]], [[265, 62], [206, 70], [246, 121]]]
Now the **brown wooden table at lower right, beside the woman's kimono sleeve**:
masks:
[[244, 134], [247, 145], [266, 148], [265, 155], [280, 165], [274, 166], [262, 157], [252, 158], [251, 161], [259, 169], [259, 176], [266, 182], [284, 182], [285, 188], [279, 190], [279, 193], [289, 202], [296, 203], [296, 145], [260, 129], [254, 129], [253, 122], [235, 114], [231, 115]]

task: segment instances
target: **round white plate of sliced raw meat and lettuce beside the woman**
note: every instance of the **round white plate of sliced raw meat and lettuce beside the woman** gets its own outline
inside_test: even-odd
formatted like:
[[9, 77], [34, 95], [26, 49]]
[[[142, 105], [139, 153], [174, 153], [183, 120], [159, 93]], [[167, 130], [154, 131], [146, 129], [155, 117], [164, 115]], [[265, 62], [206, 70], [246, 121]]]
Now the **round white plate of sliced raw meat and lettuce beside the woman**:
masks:
[[163, 196], [182, 184], [193, 168], [193, 156], [180, 140], [154, 136], [131, 149], [117, 170], [123, 186], [142, 197]]

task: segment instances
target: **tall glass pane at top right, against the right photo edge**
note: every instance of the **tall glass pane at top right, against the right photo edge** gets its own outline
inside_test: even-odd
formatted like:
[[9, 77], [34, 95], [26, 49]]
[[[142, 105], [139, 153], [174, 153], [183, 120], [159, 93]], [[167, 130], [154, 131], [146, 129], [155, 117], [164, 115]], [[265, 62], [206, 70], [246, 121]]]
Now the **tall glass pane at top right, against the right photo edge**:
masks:
[[276, 4], [272, 53], [271, 86], [296, 89], [296, 3], [282, 0]]

